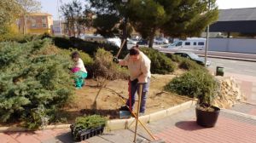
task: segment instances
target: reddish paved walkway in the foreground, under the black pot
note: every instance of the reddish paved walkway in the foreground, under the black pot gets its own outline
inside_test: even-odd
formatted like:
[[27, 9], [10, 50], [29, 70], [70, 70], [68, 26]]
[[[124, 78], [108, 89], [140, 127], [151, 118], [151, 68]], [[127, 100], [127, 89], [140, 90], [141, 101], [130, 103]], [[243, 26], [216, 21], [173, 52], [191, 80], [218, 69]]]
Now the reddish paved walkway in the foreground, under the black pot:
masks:
[[[256, 119], [233, 112], [220, 112], [214, 128], [202, 128], [195, 123], [195, 108], [179, 112], [172, 117], [147, 124], [155, 137], [174, 143], [256, 143]], [[89, 143], [131, 143], [133, 129], [122, 129], [92, 137]], [[140, 142], [148, 142], [150, 137], [139, 127]], [[36, 132], [1, 133], [1, 143], [11, 142], [73, 142], [69, 129], [48, 129]], [[138, 141], [139, 142], [139, 141]]]

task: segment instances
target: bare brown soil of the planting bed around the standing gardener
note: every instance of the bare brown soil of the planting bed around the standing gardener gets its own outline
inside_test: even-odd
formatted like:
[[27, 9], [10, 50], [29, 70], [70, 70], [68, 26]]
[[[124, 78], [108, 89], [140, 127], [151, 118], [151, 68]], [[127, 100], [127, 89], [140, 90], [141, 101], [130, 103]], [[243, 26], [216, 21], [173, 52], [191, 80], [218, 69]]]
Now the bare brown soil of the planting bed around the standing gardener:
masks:
[[[176, 72], [172, 75], [156, 75], [151, 77], [150, 89], [146, 103], [146, 114], [158, 112], [172, 106], [176, 106], [188, 101], [176, 94], [161, 93], [166, 83], [169, 83], [173, 77], [179, 75]], [[124, 101], [128, 99], [128, 81], [115, 80], [107, 81], [101, 89], [96, 81], [86, 80], [86, 86], [75, 92], [72, 103], [65, 108], [70, 115], [68, 123], [73, 123], [74, 118], [82, 115], [101, 114], [109, 118], [118, 118], [118, 108], [125, 105]], [[135, 104], [135, 107], [137, 103]], [[136, 108], [135, 108], [135, 111]]]

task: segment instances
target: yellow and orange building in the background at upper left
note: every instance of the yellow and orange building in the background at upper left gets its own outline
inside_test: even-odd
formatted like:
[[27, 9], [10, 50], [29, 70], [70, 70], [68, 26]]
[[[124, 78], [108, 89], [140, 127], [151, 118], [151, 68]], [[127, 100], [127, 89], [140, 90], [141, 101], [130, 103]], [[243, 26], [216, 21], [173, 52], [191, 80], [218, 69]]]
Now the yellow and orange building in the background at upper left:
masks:
[[[25, 20], [24, 20], [25, 19]], [[53, 18], [51, 14], [32, 13], [20, 17], [18, 22], [19, 31], [26, 34], [52, 34]]]

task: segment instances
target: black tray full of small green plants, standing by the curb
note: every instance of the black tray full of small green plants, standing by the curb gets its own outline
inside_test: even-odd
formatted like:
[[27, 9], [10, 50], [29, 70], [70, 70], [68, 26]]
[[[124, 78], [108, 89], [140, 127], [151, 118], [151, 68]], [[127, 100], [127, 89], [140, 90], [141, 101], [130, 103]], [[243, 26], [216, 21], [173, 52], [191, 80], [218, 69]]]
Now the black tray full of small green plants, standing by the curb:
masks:
[[102, 134], [107, 119], [99, 115], [77, 117], [70, 126], [74, 140], [86, 140], [97, 134]]

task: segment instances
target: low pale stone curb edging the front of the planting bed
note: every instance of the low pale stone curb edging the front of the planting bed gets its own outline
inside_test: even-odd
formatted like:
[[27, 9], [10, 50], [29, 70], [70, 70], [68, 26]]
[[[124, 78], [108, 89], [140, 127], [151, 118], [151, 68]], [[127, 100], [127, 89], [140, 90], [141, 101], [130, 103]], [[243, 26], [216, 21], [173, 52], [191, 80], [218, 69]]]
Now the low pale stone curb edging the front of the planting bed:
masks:
[[[139, 117], [140, 121], [143, 123], [150, 123], [157, 121], [164, 117], [172, 116], [177, 112], [182, 112], [185, 109], [188, 109], [191, 106], [195, 106], [196, 100], [189, 100], [177, 106], [172, 106], [166, 110], [160, 112], [154, 112], [149, 115], [144, 115]], [[135, 125], [135, 118], [129, 119], [113, 119], [109, 120], [104, 131], [111, 131], [117, 129], [130, 129]], [[44, 129], [63, 129], [69, 128], [70, 124], [60, 124], [60, 125], [48, 125]], [[4, 132], [22, 132], [22, 131], [33, 131], [33, 129], [26, 129], [21, 127], [0, 127], [0, 133]]]

